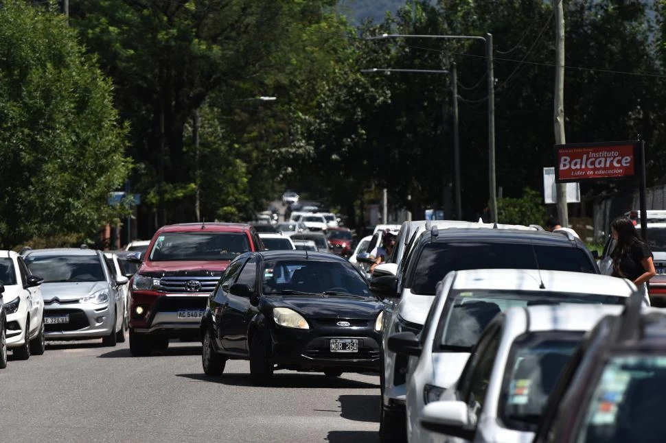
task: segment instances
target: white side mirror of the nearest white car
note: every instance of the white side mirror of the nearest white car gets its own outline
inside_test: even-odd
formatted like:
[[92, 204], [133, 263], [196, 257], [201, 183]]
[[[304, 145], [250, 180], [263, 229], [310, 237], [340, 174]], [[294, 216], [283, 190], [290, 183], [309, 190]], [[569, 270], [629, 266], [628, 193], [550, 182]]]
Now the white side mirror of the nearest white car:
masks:
[[463, 401], [434, 401], [423, 408], [421, 426], [428, 431], [474, 440], [475, 429], [468, 421], [467, 403]]

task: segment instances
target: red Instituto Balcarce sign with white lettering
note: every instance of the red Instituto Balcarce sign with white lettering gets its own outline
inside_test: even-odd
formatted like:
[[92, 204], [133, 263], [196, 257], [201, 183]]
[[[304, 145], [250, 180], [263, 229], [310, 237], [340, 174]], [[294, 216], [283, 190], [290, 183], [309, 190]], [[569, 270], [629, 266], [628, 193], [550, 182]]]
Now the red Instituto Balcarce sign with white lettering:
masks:
[[558, 145], [556, 181], [633, 176], [636, 169], [635, 147], [636, 143]]

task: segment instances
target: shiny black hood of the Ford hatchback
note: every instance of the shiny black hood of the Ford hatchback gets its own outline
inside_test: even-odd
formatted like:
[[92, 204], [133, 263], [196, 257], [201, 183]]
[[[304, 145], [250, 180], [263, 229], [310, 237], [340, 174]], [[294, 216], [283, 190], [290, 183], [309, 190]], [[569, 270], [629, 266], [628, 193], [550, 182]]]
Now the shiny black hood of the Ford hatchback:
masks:
[[273, 307], [288, 307], [308, 318], [358, 318], [371, 320], [382, 310], [382, 302], [342, 297], [271, 298]]

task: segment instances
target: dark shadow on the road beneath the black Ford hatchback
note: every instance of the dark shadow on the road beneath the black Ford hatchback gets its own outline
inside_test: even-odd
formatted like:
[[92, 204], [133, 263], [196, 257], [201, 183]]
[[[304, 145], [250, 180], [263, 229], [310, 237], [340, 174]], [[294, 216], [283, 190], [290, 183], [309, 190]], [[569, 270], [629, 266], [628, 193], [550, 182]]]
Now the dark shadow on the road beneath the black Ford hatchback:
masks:
[[[248, 373], [225, 373], [219, 377], [209, 377], [205, 374], [176, 374], [179, 377], [185, 377], [196, 381], [207, 381], [209, 383], [219, 383], [229, 386], [253, 386]], [[367, 383], [365, 381], [356, 381], [345, 379], [344, 377], [327, 377], [323, 374], [280, 374], [273, 375], [271, 387], [289, 387], [289, 388], [317, 388], [317, 387], [346, 387], [349, 389], [359, 388], [367, 389], [379, 387], [376, 383]], [[377, 408], [375, 408], [377, 409]], [[378, 421], [378, 420], [376, 420]]]

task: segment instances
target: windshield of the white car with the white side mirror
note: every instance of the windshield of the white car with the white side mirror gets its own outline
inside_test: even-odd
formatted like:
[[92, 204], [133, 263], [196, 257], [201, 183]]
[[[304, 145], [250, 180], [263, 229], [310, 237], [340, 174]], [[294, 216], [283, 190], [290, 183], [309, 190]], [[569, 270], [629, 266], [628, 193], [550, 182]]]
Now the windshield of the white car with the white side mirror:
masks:
[[498, 414], [509, 429], [536, 431], [548, 396], [583, 332], [521, 335], [509, 352]]

